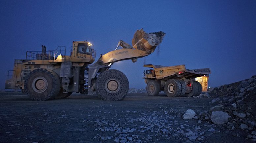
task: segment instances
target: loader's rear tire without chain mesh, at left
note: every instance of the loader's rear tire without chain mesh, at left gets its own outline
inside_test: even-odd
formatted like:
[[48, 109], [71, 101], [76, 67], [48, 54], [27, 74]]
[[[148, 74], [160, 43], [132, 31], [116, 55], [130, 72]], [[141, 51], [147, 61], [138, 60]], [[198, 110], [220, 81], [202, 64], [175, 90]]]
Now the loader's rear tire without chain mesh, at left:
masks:
[[24, 88], [33, 100], [54, 99], [60, 91], [60, 78], [50, 70], [36, 69], [28, 74]]

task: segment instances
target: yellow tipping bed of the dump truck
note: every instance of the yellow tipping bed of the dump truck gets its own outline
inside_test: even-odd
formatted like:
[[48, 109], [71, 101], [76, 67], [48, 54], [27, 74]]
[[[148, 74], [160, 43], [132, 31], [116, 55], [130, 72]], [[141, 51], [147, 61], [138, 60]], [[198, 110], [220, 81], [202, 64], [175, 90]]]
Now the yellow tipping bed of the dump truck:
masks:
[[155, 77], [145, 77], [145, 78], [156, 78], [157, 80], [169, 80], [178, 78], [196, 78], [204, 75], [211, 74], [210, 68], [201, 68], [201, 69], [186, 69], [185, 65], [175, 65], [175, 66], [161, 66], [153, 64], [144, 64], [144, 67], [154, 68]]

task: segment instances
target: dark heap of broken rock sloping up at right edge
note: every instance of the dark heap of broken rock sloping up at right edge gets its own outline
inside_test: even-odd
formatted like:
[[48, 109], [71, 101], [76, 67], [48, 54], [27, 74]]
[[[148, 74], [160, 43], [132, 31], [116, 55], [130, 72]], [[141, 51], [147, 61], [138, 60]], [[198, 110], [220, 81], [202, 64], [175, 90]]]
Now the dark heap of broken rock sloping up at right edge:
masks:
[[[213, 113], [222, 112], [225, 114], [221, 122], [230, 130], [242, 129], [256, 141], [256, 76], [247, 80], [235, 82], [229, 85], [222, 85], [210, 90], [209, 95], [215, 97], [212, 103], [218, 103], [209, 110], [213, 123]], [[211, 113], [212, 112], [212, 113]], [[228, 117], [230, 116], [230, 117]], [[228, 117], [228, 120], [226, 120]], [[220, 121], [220, 119], [218, 119]]]

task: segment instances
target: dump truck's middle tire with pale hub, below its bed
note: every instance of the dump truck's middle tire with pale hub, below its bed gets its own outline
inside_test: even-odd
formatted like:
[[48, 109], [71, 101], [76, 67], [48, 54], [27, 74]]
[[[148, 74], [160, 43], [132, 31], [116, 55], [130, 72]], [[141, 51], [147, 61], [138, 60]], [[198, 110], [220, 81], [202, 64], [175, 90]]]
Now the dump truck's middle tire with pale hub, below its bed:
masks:
[[179, 80], [167, 80], [164, 85], [164, 91], [168, 97], [179, 97], [181, 94], [181, 83]]

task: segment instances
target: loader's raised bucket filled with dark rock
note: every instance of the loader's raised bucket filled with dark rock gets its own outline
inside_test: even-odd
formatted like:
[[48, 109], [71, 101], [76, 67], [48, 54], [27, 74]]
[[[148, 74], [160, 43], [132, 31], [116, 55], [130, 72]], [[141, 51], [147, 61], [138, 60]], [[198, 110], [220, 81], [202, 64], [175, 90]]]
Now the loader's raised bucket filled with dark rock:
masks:
[[162, 31], [154, 33], [146, 33], [143, 29], [137, 30], [131, 40], [132, 46], [135, 49], [153, 53], [156, 47], [162, 42], [165, 33]]

